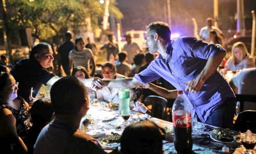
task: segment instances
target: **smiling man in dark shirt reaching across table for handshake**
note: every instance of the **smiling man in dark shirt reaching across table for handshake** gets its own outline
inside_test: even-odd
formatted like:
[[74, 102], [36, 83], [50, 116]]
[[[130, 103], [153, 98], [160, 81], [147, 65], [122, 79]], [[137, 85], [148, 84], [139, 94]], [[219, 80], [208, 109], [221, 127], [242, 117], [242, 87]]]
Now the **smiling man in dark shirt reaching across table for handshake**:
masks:
[[[33, 97], [35, 97], [42, 84], [52, 86], [53, 83], [61, 79], [47, 70], [53, 60], [51, 45], [41, 42], [33, 46], [28, 58], [17, 62], [11, 70], [11, 74], [19, 82], [19, 96], [29, 102], [31, 87], [33, 87]], [[88, 87], [92, 79], [81, 79], [81, 81]]]

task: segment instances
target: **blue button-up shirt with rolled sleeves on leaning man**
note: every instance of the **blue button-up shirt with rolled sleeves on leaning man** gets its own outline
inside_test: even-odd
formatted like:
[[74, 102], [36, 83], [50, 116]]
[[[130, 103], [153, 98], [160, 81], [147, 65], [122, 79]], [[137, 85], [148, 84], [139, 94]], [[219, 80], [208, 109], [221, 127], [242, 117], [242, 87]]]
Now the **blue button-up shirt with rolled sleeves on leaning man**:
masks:
[[235, 97], [226, 80], [216, 70], [197, 93], [185, 91], [189, 80], [195, 79], [205, 67], [207, 60], [220, 52], [226, 52], [218, 45], [208, 44], [193, 37], [172, 40], [166, 47], [166, 59], [161, 54], [144, 71], [134, 77], [141, 83], [149, 83], [160, 77], [183, 90], [192, 113], [205, 122], [207, 117], [228, 98]]

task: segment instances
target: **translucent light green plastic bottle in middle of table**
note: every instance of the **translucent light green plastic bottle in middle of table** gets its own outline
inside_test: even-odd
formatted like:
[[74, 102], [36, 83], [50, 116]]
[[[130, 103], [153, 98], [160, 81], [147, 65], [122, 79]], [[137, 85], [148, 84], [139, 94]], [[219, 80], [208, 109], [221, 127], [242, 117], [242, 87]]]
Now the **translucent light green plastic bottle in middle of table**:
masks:
[[119, 114], [123, 109], [130, 110], [130, 90], [129, 89], [120, 89], [118, 91], [118, 100], [119, 100]]

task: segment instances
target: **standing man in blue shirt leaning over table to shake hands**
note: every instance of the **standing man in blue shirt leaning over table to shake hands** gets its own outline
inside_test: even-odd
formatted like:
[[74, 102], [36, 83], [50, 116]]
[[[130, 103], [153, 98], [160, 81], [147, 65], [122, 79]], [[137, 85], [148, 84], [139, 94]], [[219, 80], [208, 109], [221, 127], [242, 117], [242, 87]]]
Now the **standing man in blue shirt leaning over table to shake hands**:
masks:
[[[184, 91], [184, 98], [190, 103], [192, 113], [196, 113], [201, 122], [232, 128], [235, 96], [217, 71], [226, 51], [218, 45], [193, 37], [170, 40], [170, 35], [166, 23], [154, 22], [148, 25], [146, 45], [150, 53], [158, 52], [159, 56], [133, 78], [94, 79], [91, 88], [132, 88], [162, 77], [176, 89]], [[176, 90], [170, 92], [172, 96], [177, 96], [175, 93]]]

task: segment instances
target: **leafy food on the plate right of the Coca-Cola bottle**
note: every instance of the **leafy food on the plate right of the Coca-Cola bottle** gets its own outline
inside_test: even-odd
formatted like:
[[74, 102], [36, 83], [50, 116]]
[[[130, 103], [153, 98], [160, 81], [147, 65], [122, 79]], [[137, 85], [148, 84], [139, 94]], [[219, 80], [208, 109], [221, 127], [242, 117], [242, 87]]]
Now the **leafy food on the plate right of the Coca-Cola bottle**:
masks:
[[215, 128], [212, 132], [213, 135], [220, 141], [231, 142], [240, 138], [240, 135], [235, 134], [234, 131], [230, 131], [230, 129], [223, 128]]

